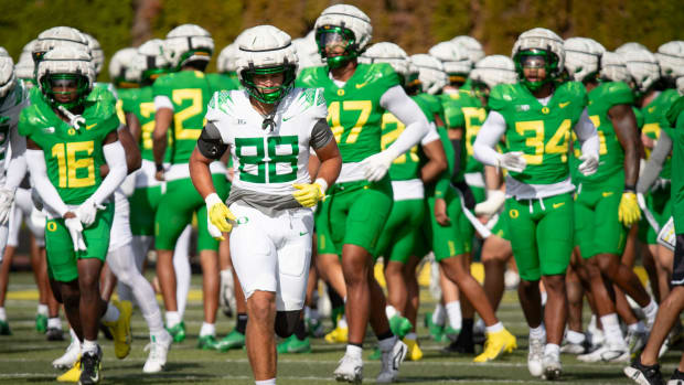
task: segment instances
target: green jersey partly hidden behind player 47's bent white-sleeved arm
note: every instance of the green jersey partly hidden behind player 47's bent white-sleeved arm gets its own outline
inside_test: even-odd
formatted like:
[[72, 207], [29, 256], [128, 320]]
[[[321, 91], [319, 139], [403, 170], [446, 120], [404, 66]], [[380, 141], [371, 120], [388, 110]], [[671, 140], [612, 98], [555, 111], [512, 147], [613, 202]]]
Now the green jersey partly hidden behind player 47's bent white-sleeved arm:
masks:
[[[413, 96], [412, 99], [416, 101], [418, 107], [423, 110], [428, 121], [434, 121], [435, 118], [430, 111], [430, 106], [425, 99]], [[382, 149], [385, 150], [392, 146], [399, 135], [404, 132], [406, 126], [397, 119], [392, 113], [383, 114], [382, 129]], [[412, 179], [420, 178], [420, 146], [416, 145], [410, 150], [400, 154], [392, 162], [389, 167], [389, 179], [393, 181], [407, 181]]]

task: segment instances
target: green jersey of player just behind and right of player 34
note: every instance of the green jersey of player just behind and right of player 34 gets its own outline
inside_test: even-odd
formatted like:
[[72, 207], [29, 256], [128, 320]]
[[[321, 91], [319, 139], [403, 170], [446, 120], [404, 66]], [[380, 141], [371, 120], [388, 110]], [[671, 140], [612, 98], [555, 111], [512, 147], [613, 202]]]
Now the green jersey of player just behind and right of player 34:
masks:
[[581, 172], [575, 172], [581, 163], [581, 147], [577, 135], [573, 132], [573, 180], [584, 184], [601, 183], [616, 172], [624, 170], [624, 150], [618, 140], [608, 110], [616, 105], [629, 105], [634, 103], [632, 89], [622, 82], [601, 83], [588, 93], [589, 105], [587, 113], [589, 119], [596, 126], [599, 136], [599, 168], [595, 174], [585, 177]]

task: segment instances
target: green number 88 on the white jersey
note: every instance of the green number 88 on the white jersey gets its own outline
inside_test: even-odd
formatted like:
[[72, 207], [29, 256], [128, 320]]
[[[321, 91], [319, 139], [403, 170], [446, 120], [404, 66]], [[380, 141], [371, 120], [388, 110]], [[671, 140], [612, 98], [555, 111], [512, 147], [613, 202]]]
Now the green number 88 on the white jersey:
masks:
[[[235, 138], [235, 153], [239, 159], [241, 181], [285, 183], [297, 179], [297, 160], [299, 156], [299, 139], [297, 136]], [[286, 168], [289, 167], [290, 172], [278, 173], [278, 164]], [[256, 174], [245, 171], [247, 167], [248, 170], [255, 170]]]

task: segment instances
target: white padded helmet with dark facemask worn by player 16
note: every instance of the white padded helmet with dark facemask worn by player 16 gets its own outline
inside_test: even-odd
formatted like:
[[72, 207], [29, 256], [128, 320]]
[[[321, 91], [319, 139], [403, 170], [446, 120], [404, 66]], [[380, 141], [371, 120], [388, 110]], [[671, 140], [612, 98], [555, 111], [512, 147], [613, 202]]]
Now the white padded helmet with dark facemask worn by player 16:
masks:
[[77, 75], [78, 76], [78, 99], [65, 105], [66, 108], [78, 105], [87, 97], [93, 83], [95, 82], [95, 71], [90, 64], [90, 54], [84, 50], [71, 46], [57, 46], [49, 51], [38, 64], [38, 85], [43, 95], [57, 103], [52, 94], [50, 79], [55, 75]]

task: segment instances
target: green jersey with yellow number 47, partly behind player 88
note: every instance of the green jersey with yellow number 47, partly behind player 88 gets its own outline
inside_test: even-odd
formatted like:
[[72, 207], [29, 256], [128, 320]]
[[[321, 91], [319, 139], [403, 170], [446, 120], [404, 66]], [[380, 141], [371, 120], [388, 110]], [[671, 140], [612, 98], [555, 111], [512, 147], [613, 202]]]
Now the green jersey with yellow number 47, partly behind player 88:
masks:
[[380, 105], [383, 94], [399, 85], [399, 77], [386, 63], [359, 64], [343, 87], [328, 75], [328, 67], [304, 68], [297, 87], [323, 88], [328, 101], [328, 122], [335, 136], [342, 162], [360, 162], [381, 151]]

